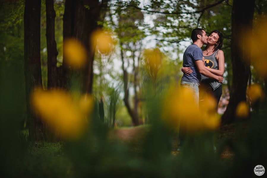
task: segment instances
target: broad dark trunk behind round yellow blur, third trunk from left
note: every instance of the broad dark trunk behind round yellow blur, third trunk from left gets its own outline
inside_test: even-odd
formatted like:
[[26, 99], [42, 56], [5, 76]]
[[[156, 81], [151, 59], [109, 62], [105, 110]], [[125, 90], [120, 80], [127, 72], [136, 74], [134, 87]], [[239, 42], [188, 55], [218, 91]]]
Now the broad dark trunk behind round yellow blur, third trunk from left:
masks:
[[[83, 76], [83, 92], [92, 93], [93, 61], [95, 47], [91, 46], [91, 33], [98, 28], [97, 21], [103, 20], [103, 14], [109, 0], [66, 0], [63, 17], [63, 39], [74, 37], [82, 42], [87, 51], [86, 63], [81, 75]], [[101, 13], [100, 13], [101, 12]], [[63, 46], [64, 47], [64, 46]], [[71, 75], [70, 67], [64, 62], [59, 70], [64, 78], [61, 82], [63, 88], [67, 88]]]

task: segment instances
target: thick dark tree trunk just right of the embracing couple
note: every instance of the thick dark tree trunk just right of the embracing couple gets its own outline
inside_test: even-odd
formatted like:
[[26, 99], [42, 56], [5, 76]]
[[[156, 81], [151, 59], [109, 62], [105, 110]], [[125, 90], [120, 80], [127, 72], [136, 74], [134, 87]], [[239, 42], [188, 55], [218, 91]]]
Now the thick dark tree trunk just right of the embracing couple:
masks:
[[[244, 53], [249, 50], [245, 36], [252, 35], [252, 20], [255, 8], [255, 0], [234, 0], [232, 9], [232, 66], [233, 84], [227, 109], [222, 116], [222, 124], [233, 123], [236, 106], [241, 101], [246, 101], [246, 90], [250, 73], [250, 59]], [[246, 34], [242, 33], [244, 30]], [[243, 46], [241, 46], [243, 45]]]

